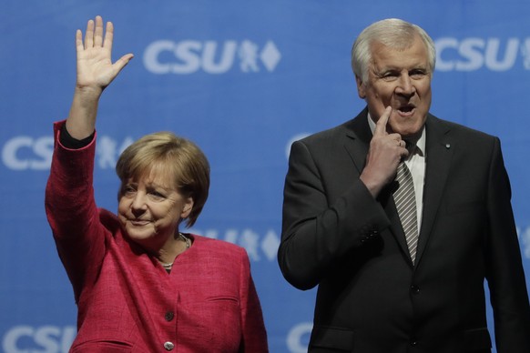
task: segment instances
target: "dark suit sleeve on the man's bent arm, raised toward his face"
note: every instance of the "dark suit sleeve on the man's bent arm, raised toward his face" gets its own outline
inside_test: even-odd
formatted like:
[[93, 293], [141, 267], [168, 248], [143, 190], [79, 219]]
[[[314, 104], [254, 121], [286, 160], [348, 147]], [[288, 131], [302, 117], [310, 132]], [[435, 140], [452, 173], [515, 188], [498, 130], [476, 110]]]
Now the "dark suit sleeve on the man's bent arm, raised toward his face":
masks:
[[278, 252], [283, 276], [300, 289], [317, 286], [335, 261], [381, 237], [390, 226], [359, 175], [337, 186], [333, 174], [343, 166], [329, 162], [334, 152], [312, 147], [304, 141], [291, 146]]

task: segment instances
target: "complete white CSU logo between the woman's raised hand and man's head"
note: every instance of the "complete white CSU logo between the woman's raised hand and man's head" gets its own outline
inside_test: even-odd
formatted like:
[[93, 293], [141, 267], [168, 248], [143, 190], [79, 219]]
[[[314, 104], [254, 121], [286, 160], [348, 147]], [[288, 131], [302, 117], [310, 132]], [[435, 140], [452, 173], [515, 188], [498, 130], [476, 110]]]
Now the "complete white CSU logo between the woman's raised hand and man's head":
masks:
[[281, 54], [274, 42], [260, 46], [243, 41], [158, 40], [146, 48], [144, 65], [153, 74], [187, 75], [198, 71], [224, 74], [234, 66], [241, 72], [257, 73], [263, 69], [272, 72], [280, 62]]

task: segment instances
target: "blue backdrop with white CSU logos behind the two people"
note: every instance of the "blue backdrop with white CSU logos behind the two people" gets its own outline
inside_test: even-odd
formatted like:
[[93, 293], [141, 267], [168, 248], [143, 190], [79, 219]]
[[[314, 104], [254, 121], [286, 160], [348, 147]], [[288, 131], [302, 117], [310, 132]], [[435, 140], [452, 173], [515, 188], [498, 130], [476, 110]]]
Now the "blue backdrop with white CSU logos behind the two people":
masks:
[[2, 351], [66, 352], [76, 335], [44, 189], [52, 122], [66, 117], [75, 84], [75, 31], [87, 19], [114, 22], [115, 58], [136, 56], [100, 104], [99, 205], [116, 210], [113, 167], [132, 140], [172, 130], [196, 141], [212, 185], [193, 231], [246, 247], [270, 351], [304, 352], [314, 290], [290, 287], [276, 262], [287, 154], [293, 140], [362, 109], [350, 49], [363, 27], [385, 17], [421, 25], [436, 42], [433, 114], [500, 136], [530, 278], [529, 13], [525, 0], [4, 1]]

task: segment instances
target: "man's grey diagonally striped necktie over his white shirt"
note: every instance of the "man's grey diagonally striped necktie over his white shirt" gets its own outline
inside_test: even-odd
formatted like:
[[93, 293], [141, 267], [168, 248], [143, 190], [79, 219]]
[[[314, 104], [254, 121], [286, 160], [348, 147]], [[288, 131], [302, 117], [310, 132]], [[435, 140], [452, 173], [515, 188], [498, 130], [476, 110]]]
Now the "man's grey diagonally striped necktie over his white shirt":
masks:
[[398, 188], [393, 193], [393, 200], [402, 221], [403, 232], [413, 263], [418, 247], [418, 220], [416, 215], [416, 197], [414, 195], [413, 175], [404, 162], [397, 169]]

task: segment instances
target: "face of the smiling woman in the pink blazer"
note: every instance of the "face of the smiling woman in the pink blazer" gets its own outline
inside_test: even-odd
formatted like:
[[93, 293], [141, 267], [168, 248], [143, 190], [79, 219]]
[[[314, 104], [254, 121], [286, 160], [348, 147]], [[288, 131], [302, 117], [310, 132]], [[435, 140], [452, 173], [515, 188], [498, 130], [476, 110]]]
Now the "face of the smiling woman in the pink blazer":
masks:
[[180, 195], [173, 178], [157, 168], [124, 180], [119, 195], [118, 217], [128, 237], [153, 251], [173, 238], [193, 207], [193, 199]]

